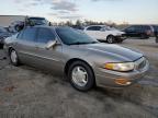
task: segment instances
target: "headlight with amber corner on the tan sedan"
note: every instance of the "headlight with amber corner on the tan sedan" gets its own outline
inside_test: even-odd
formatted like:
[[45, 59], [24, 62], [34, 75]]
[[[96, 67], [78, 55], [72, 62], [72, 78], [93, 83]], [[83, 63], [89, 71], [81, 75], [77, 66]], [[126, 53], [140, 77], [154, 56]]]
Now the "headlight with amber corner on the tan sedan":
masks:
[[122, 63], [105, 63], [104, 68], [115, 71], [132, 71], [134, 70], [134, 62], [122, 62]]

